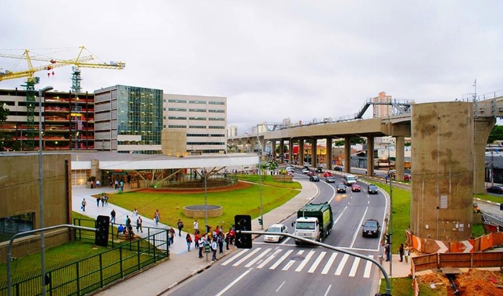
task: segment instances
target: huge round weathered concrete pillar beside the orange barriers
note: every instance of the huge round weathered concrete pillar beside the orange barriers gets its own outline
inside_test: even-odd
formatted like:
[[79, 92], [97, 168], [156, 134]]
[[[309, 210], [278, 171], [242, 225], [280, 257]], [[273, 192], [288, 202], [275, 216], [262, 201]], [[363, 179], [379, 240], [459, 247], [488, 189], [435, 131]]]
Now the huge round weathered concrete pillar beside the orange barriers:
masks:
[[412, 105], [410, 229], [420, 238], [472, 235], [472, 114], [468, 102]]

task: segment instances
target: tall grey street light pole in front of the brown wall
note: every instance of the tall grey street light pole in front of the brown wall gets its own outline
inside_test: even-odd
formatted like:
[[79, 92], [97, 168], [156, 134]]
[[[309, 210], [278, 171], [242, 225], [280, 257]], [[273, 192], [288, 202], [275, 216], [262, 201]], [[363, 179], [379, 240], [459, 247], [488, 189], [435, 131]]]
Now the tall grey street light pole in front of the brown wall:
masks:
[[[38, 190], [39, 190], [39, 216], [40, 226], [44, 228], [44, 189], [42, 172], [42, 96], [45, 92], [52, 89], [52, 86], [46, 86], [38, 91]], [[42, 295], [45, 296], [45, 241], [44, 232], [40, 231], [40, 261], [42, 271]]]

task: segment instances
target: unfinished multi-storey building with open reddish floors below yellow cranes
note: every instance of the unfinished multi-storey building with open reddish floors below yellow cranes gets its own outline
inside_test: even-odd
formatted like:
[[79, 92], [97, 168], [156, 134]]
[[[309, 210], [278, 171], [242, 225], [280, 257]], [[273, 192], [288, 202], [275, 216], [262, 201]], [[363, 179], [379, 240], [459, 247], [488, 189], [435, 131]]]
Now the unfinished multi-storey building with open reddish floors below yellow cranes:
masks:
[[[7, 120], [0, 124], [4, 150], [38, 150], [38, 101], [38, 92], [35, 92], [31, 117], [26, 90], [0, 90], [0, 105], [9, 109]], [[42, 150], [94, 149], [94, 94], [46, 92], [42, 98], [40, 119]]]

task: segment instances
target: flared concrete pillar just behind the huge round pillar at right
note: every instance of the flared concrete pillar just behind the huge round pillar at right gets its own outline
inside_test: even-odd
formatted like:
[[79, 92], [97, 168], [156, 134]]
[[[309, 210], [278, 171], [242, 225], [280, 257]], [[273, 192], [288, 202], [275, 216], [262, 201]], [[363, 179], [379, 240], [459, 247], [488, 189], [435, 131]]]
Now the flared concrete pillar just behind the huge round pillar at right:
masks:
[[473, 192], [485, 192], [485, 145], [496, 118], [475, 118], [473, 127], [474, 158], [473, 158]]

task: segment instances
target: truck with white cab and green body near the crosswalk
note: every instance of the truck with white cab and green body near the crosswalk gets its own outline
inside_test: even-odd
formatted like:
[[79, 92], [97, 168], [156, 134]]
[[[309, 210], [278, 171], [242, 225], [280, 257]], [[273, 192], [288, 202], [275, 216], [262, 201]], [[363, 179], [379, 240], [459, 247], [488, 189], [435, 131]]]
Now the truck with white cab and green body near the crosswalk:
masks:
[[[330, 234], [333, 226], [332, 207], [328, 203], [307, 204], [297, 211], [294, 234], [321, 242]], [[295, 240], [299, 245], [300, 240]]]

